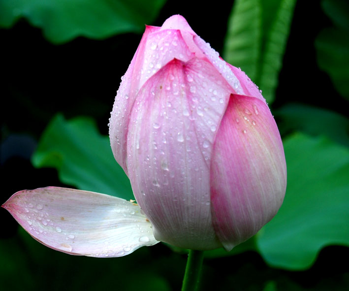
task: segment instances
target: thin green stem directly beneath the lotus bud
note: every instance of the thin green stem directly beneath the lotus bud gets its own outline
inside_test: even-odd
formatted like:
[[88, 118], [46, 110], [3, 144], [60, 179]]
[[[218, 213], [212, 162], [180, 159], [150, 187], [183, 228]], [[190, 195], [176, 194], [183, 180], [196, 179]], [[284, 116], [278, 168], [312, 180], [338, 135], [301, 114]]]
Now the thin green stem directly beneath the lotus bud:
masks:
[[200, 279], [203, 251], [189, 250], [186, 272], [184, 274], [182, 291], [196, 291]]

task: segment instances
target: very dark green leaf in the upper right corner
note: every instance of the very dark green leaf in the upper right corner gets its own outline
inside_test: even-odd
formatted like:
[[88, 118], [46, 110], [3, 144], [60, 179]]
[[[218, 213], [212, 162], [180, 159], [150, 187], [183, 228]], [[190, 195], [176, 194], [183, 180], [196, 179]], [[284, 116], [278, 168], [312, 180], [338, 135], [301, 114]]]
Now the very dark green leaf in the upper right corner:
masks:
[[334, 26], [317, 36], [317, 63], [331, 78], [337, 91], [349, 99], [349, 2], [323, 0], [322, 8]]

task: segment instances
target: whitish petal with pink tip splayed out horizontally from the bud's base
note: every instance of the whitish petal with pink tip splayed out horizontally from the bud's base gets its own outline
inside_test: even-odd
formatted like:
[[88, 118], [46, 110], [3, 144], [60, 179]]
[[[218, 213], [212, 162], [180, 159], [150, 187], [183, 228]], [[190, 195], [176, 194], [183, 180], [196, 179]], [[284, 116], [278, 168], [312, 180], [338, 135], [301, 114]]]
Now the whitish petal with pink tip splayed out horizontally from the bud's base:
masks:
[[122, 257], [158, 243], [137, 204], [105, 194], [39, 188], [13, 194], [2, 207], [34, 239], [71, 255]]

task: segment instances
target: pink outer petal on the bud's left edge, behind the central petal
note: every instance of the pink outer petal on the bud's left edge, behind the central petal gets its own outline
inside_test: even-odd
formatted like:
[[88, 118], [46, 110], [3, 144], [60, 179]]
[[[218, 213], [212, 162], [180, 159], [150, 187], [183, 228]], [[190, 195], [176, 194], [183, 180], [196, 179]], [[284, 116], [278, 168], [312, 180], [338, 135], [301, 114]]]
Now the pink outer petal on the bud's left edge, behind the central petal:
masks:
[[161, 67], [174, 58], [184, 62], [194, 55], [178, 30], [146, 27], [138, 49], [122, 78], [109, 122], [109, 137], [116, 161], [127, 173], [126, 136], [129, 114], [138, 90]]

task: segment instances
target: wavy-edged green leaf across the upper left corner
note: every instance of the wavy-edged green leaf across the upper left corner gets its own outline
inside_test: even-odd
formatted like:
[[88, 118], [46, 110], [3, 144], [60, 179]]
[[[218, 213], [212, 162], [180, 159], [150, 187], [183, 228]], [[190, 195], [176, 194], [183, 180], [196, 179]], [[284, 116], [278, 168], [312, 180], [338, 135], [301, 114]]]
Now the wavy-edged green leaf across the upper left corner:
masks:
[[24, 17], [56, 44], [77, 36], [101, 39], [117, 33], [142, 32], [164, 3], [165, 0], [0, 0], [0, 26], [9, 28]]

